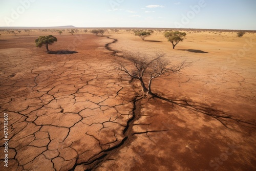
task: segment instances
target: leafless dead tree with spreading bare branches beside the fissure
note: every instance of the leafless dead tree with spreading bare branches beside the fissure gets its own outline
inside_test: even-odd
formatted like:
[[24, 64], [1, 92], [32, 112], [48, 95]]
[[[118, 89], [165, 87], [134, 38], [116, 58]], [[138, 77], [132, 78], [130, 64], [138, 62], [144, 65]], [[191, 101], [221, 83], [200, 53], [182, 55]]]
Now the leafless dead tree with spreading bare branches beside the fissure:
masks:
[[118, 69], [127, 73], [132, 79], [140, 81], [142, 91], [145, 95], [154, 96], [152, 93], [152, 81], [165, 73], [176, 73], [190, 65], [183, 61], [177, 65], [163, 59], [164, 53], [157, 53], [155, 56], [148, 56], [140, 53], [126, 53], [124, 58], [133, 63], [132, 69], [129, 69], [123, 62], [119, 62]]

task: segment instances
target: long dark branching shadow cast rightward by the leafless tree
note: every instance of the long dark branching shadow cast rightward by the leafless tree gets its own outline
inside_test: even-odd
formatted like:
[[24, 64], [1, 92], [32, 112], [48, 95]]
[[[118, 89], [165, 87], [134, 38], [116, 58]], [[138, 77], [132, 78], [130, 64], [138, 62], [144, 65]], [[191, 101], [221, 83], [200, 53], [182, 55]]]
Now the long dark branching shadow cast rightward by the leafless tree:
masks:
[[[242, 118], [237, 118], [232, 115], [228, 115], [223, 111], [213, 109], [209, 106], [203, 106], [202, 104], [194, 104], [193, 101], [189, 100], [173, 100], [173, 99], [168, 99], [165, 97], [162, 97], [158, 94], [153, 93], [152, 94], [153, 98], [159, 98], [161, 100], [164, 100], [166, 102], [172, 103], [172, 105], [178, 105], [181, 106], [193, 113], [201, 113], [204, 115], [207, 115], [211, 118], [214, 118], [221, 122], [225, 127], [227, 127], [230, 130], [236, 129], [236, 127], [233, 125], [236, 123], [239, 126], [246, 127], [248, 129], [256, 129], [256, 121], [255, 120], [247, 120], [247, 119], [242, 119]], [[232, 123], [230, 122], [232, 121]]]

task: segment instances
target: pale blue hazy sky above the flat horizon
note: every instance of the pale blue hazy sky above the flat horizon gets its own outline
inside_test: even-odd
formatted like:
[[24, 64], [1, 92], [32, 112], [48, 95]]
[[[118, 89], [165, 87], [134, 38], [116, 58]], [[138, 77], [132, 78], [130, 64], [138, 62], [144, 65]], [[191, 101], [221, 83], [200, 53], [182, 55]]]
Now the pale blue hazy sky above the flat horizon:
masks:
[[0, 0], [0, 27], [256, 30], [256, 0]]

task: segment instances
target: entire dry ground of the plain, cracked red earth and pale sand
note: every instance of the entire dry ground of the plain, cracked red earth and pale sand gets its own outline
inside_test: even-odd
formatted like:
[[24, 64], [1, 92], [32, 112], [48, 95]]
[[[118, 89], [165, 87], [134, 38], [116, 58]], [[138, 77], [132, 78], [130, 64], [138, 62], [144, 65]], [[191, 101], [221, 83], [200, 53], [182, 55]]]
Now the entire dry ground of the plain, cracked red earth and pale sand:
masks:
[[[156, 31], [53, 34], [47, 53], [34, 40], [48, 34], [0, 37], [1, 170], [256, 170], [255, 33], [190, 31], [175, 50]], [[141, 98], [106, 44], [193, 63]]]

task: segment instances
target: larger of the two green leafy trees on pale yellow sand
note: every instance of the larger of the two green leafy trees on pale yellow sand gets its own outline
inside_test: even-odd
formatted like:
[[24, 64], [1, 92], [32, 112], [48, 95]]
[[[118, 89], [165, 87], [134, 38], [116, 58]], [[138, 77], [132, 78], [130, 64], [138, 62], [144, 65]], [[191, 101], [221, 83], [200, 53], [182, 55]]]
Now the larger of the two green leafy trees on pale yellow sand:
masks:
[[164, 33], [164, 36], [168, 39], [169, 42], [173, 44], [173, 49], [175, 46], [180, 42], [184, 40], [184, 37], [186, 36], [185, 32], [179, 32], [179, 31], [167, 31]]

